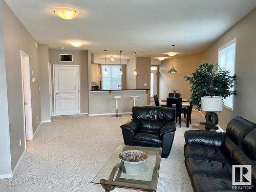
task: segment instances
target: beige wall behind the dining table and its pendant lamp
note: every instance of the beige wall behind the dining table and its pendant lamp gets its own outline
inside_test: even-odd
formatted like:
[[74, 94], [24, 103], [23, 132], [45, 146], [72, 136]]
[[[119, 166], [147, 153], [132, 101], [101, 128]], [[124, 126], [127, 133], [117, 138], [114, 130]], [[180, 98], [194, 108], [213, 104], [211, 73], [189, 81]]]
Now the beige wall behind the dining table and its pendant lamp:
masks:
[[184, 76], [189, 76], [189, 72], [194, 71], [200, 63], [201, 54], [174, 57], [174, 68], [178, 73], [170, 74], [168, 71], [172, 68], [172, 59], [163, 60], [159, 66], [159, 99], [166, 99], [173, 90], [178, 90], [182, 98], [190, 99], [189, 82]]

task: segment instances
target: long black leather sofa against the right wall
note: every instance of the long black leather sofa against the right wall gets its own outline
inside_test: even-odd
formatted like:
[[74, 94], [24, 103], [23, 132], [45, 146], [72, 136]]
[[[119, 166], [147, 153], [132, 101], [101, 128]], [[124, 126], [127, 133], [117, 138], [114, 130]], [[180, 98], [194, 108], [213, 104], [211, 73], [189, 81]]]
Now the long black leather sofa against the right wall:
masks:
[[185, 165], [194, 191], [235, 191], [232, 165], [251, 165], [252, 185], [256, 187], [255, 123], [235, 117], [226, 133], [186, 131], [185, 141]]

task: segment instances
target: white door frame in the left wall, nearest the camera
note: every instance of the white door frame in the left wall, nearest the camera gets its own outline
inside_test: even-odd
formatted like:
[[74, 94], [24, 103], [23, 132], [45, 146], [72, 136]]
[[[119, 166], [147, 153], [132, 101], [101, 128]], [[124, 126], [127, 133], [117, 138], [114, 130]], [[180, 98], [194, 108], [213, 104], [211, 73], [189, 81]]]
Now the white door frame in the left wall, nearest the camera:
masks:
[[[23, 69], [23, 58], [25, 59], [25, 69]], [[32, 124], [32, 102], [31, 102], [31, 87], [30, 87], [29, 55], [27, 53], [25, 53], [24, 51], [22, 51], [22, 50], [20, 50], [20, 67], [22, 69], [24, 137], [25, 137], [25, 147], [26, 147], [26, 138], [27, 138], [27, 140], [32, 140], [33, 139], [33, 124]], [[26, 71], [26, 77], [23, 76], [23, 70]], [[24, 81], [24, 79], [25, 79], [25, 81]], [[25, 91], [25, 92], [24, 92], [24, 82], [26, 83], [26, 88], [27, 88], [27, 91]], [[26, 99], [27, 99], [26, 109], [25, 109], [25, 98], [24, 98], [25, 94], [26, 94]], [[26, 113], [25, 113], [25, 110], [26, 110]]]

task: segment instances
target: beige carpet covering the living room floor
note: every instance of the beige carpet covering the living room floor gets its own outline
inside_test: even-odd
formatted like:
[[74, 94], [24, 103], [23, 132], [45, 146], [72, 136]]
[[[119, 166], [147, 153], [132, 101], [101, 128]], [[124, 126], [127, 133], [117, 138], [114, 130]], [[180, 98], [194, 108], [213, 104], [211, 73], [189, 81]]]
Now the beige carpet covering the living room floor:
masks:
[[[123, 144], [121, 118], [62, 116], [42, 123], [14, 178], [0, 180], [0, 191], [104, 191], [91, 180], [116, 148]], [[204, 118], [193, 112], [193, 123]], [[177, 127], [168, 159], [161, 159], [159, 192], [192, 191], [184, 165], [185, 119]], [[114, 191], [134, 191], [116, 188]]]

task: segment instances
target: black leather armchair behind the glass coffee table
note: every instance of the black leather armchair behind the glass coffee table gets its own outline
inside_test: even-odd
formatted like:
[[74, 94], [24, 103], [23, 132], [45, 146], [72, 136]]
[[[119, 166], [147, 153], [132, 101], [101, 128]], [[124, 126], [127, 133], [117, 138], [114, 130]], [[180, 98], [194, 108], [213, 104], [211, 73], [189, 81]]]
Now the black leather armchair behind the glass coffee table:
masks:
[[125, 145], [161, 147], [162, 158], [167, 158], [176, 131], [175, 109], [134, 106], [133, 119], [121, 129]]

